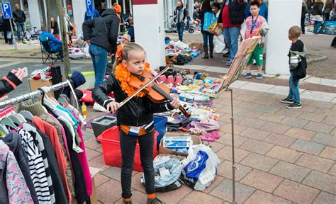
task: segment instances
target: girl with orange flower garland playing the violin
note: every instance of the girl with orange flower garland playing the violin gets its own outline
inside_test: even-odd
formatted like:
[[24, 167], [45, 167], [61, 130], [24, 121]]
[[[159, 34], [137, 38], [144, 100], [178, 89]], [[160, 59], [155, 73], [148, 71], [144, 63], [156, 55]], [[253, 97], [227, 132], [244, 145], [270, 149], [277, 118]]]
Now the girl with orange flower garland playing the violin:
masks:
[[[147, 203], [162, 203], [155, 196], [153, 142], [154, 121], [153, 113], [161, 113], [179, 108], [179, 99], [171, 102], [154, 103], [147, 94], [140, 92], [124, 106], [119, 103], [133, 94], [136, 89], [130, 86], [131, 75], [142, 75], [150, 72], [150, 65], [145, 62], [146, 52], [138, 44], [130, 42], [119, 47], [116, 53], [116, 67], [114, 75], [108, 77], [103, 84], [94, 88], [94, 100], [109, 112], [117, 113], [118, 125], [121, 130], [121, 188], [123, 203], [132, 203], [130, 193], [132, 169], [134, 163], [135, 145], [140, 145], [141, 166], [145, 174]], [[113, 91], [116, 101], [108, 98], [107, 94]], [[118, 110], [117, 110], [118, 109]]]

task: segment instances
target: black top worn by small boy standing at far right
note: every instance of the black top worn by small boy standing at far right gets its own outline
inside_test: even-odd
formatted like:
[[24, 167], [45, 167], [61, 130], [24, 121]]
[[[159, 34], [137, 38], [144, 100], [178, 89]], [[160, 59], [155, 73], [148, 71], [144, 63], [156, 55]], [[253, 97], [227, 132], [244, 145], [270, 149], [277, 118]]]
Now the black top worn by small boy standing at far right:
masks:
[[[303, 52], [304, 50], [304, 44], [301, 40], [298, 40], [294, 42], [291, 45], [291, 51], [296, 51], [296, 52]], [[289, 53], [289, 57], [291, 54]], [[307, 60], [306, 57], [301, 57], [301, 62], [298, 62], [298, 66], [291, 70], [291, 74], [293, 74], [293, 79], [303, 79], [306, 77], [306, 69], [307, 69]]]

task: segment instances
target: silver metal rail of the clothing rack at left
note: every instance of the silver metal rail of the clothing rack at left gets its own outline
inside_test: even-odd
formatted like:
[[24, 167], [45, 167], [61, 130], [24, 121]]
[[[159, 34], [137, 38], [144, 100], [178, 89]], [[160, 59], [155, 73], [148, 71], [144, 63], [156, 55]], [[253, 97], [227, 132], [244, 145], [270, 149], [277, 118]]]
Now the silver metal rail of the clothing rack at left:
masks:
[[[45, 94], [47, 94], [49, 92], [57, 91], [58, 89], [65, 88], [67, 86], [69, 86], [69, 82], [64, 81], [64, 82], [61, 82], [60, 84], [55, 84], [55, 85], [52, 85], [52, 86], [44, 86], [43, 90], [46, 90]], [[29, 94], [23, 94], [22, 96], [11, 98], [9, 100], [0, 102], [0, 108], [4, 108], [6, 106], [13, 105], [13, 104], [16, 104], [16, 103], [21, 103], [22, 101], [26, 101], [30, 98], [35, 98], [37, 96], [41, 96], [42, 94], [43, 94], [43, 91], [36, 90], [36, 91], [30, 92]]]

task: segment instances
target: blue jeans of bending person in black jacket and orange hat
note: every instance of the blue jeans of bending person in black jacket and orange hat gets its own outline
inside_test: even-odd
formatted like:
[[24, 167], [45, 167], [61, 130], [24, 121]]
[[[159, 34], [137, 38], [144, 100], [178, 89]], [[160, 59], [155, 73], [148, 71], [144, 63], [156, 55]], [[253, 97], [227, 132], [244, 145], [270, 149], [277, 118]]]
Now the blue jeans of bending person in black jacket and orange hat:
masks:
[[103, 47], [91, 44], [89, 47], [89, 54], [91, 55], [92, 63], [94, 64], [94, 87], [103, 83], [107, 66], [107, 50]]

